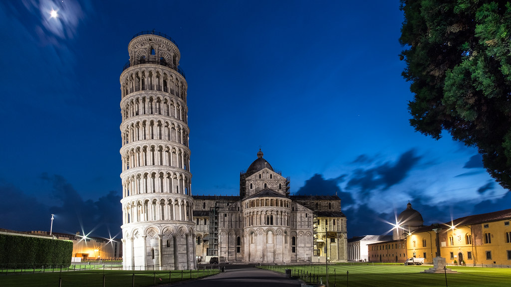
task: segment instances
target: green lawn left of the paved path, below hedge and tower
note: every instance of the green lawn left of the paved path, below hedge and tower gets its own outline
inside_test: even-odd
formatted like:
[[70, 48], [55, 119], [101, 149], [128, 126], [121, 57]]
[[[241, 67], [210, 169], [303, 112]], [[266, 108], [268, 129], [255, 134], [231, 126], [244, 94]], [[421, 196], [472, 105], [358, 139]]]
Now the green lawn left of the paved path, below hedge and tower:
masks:
[[[156, 284], [168, 284], [170, 271], [121, 271], [121, 270], [81, 270], [52, 273], [3, 273], [0, 275], [0, 286], [59, 286], [59, 278], [62, 279], [62, 287], [67, 286], [103, 286], [103, 276], [106, 287], [135, 287], [152, 286]], [[175, 283], [181, 280], [190, 280], [208, 275], [217, 274], [218, 270], [184, 270], [172, 271], [170, 282]], [[133, 276], [134, 274], [134, 276]]]

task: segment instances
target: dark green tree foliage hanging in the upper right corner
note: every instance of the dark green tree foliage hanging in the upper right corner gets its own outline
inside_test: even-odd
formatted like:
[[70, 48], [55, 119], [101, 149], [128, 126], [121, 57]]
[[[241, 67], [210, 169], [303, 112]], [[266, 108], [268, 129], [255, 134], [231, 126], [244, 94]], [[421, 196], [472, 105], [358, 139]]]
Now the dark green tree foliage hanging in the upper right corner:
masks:
[[485, 169], [510, 189], [511, 4], [401, 0], [401, 10], [411, 126], [476, 147]]

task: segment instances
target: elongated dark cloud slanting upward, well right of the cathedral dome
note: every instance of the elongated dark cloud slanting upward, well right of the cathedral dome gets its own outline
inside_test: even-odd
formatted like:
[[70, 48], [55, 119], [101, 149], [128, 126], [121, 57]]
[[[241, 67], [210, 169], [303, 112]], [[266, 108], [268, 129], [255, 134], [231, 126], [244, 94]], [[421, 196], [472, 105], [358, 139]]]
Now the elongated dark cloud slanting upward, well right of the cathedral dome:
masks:
[[374, 168], [355, 170], [346, 188], [359, 188], [362, 196], [369, 196], [375, 189], [388, 189], [400, 183], [421, 159], [421, 156], [415, 153], [415, 150], [409, 150], [403, 153], [397, 162], [385, 162]]

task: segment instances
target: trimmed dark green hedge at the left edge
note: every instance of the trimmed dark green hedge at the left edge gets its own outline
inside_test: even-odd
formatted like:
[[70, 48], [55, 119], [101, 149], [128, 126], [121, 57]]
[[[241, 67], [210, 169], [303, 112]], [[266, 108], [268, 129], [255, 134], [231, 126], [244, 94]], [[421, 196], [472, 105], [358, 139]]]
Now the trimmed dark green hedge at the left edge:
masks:
[[73, 242], [69, 240], [0, 234], [2, 268], [68, 267], [72, 255]]

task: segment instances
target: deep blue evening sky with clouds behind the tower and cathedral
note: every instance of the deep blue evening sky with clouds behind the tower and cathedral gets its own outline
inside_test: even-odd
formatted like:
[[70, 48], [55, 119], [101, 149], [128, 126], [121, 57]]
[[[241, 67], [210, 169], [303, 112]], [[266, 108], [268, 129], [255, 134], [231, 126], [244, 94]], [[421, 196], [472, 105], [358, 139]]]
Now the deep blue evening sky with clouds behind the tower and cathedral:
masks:
[[0, 228], [119, 236], [119, 76], [152, 29], [187, 76], [193, 194], [237, 195], [261, 146], [292, 194], [339, 195], [349, 237], [408, 201], [425, 224], [508, 208], [475, 149], [409, 126], [402, 21], [398, 0], [0, 2]]

